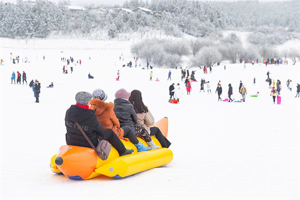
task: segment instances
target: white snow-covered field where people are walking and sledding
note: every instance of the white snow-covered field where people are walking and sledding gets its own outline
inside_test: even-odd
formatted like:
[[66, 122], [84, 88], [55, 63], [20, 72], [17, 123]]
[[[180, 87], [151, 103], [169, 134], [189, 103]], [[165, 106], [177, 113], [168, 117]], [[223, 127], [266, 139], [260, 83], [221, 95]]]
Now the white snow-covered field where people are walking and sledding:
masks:
[[[160, 81], [151, 82], [150, 70], [121, 67], [130, 60], [133, 62], [130, 42], [99, 42], [106, 47], [93, 50], [85, 48], [92, 44], [90, 41], [69, 41], [67, 47], [60, 41], [44, 42], [45, 46], [56, 47], [30, 49], [21, 42], [21, 47], [8, 48], [6, 43], [1, 44], [0, 58], [5, 64], [0, 66], [1, 199], [300, 197], [300, 99], [294, 97], [296, 83], [300, 83], [299, 62], [267, 67], [247, 64], [245, 69], [242, 64], [226, 64], [226, 70], [222, 63], [213, 67], [211, 74], [203, 74], [198, 69], [195, 78], [209, 81], [212, 94], [199, 92], [200, 83], [193, 82], [190, 95], [186, 95], [179, 69], [171, 69], [172, 80], [167, 81], [169, 69], [153, 68], [153, 80], [158, 77]], [[20, 58], [27, 56], [30, 63], [12, 64], [10, 52]], [[118, 58], [121, 53], [124, 61]], [[72, 65], [72, 74], [69, 67], [69, 73], [63, 74], [62, 66], [66, 62], [60, 58], [69, 56], [81, 59], [82, 64]], [[115, 81], [118, 69], [120, 80]], [[28, 84], [31, 79], [39, 80], [40, 103], [34, 102], [28, 85], [10, 84], [11, 72], [17, 70], [26, 72]], [[271, 78], [281, 80], [280, 105], [273, 104], [269, 95], [265, 82], [268, 70]], [[88, 79], [88, 72], [95, 78]], [[253, 77], [256, 85], [252, 84]], [[292, 91], [287, 90], [287, 79], [293, 82]], [[241, 98], [238, 85], [242, 80], [248, 92], [246, 101], [218, 102], [214, 93], [218, 80], [222, 82], [222, 98], [226, 97], [227, 85], [231, 83], [235, 99]], [[54, 88], [46, 88], [51, 82]], [[184, 93], [180, 104], [168, 103], [171, 83], [180, 83]], [[156, 121], [167, 116], [172, 162], [122, 179], [100, 176], [74, 181], [52, 173], [50, 157], [65, 144], [66, 109], [75, 103], [77, 91], [92, 92], [96, 88], [105, 91], [107, 102], [113, 101], [119, 88], [139, 89]], [[249, 96], [257, 91], [260, 93], [257, 98]]]

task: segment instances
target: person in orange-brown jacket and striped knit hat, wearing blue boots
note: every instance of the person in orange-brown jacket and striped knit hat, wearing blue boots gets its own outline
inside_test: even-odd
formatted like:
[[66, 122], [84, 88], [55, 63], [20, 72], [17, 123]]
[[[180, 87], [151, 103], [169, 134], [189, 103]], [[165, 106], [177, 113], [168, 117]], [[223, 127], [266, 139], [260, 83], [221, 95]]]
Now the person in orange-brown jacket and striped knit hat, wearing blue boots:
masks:
[[120, 126], [120, 122], [113, 111], [114, 104], [112, 102], [104, 102], [107, 95], [102, 89], [95, 89], [92, 92], [92, 95], [93, 99], [90, 100], [89, 109], [95, 110], [97, 119], [102, 124], [104, 130], [110, 128], [118, 136], [118, 138], [128, 138], [137, 147], [138, 152], [151, 149], [138, 141], [136, 135], [129, 126]]

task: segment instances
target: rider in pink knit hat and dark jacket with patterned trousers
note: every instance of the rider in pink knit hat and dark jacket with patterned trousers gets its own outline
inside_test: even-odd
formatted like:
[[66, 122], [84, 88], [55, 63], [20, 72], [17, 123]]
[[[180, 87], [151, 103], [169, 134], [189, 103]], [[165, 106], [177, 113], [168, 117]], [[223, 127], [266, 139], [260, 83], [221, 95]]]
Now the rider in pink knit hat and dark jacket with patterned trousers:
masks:
[[135, 135], [138, 135], [147, 142], [151, 149], [159, 148], [159, 146], [154, 144], [147, 130], [143, 126], [138, 125], [138, 118], [133, 105], [128, 101], [130, 92], [122, 88], [117, 90], [114, 96], [113, 111], [120, 122], [120, 126], [129, 126]]

